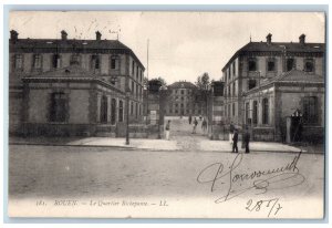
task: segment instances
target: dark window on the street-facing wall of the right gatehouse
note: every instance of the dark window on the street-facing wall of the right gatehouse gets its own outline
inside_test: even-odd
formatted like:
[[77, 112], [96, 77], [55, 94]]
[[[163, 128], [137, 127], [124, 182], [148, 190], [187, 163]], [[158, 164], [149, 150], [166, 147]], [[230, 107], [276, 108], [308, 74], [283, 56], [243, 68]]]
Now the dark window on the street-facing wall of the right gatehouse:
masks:
[[318, 123], [318, 99], [315, 96], [303, 97], [303, 122], [305, 124]]

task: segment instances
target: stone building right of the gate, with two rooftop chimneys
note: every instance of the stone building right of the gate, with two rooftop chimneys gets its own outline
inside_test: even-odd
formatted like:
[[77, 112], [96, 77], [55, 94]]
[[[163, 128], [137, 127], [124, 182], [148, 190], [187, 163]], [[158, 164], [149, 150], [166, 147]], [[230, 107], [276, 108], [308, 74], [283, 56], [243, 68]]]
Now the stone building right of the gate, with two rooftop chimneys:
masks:
[[[267, 141], [281, 139], [281, 118], [297, 110], [303, 118], [314, 110], [315, 123], [324, 126], [324, 56], [325, 44], [307, 43], [304, 34], [299, 42], [272, 42], [272, 34], [250, 41], [222, 68], [227, 122], [250, 125], [256, 139]], [[308, 111], [307, 102], [315, 107]]]

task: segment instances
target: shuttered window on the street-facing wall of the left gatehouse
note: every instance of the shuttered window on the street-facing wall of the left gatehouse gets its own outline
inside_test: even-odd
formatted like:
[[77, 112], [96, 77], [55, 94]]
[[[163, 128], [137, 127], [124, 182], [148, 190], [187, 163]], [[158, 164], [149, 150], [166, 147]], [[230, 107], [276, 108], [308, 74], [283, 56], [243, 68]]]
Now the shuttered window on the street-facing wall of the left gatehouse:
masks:
[[66, 117], [66, 95], [64, 93], [52, 93], [50, 121], [65, 122], [66, 121], [65, 117]]

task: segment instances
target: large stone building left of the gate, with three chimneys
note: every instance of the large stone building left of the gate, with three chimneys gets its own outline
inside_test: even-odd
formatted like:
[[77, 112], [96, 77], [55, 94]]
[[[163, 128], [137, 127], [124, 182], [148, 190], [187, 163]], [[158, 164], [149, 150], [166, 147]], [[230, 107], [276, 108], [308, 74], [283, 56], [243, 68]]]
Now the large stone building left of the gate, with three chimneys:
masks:
[[[129, 123], [143, 121], [144, 66], [117, 40], [9, 41], [10, 134], [123, 135], [126, 92]], [[128, 90], [129, 89], [129, 90]]]

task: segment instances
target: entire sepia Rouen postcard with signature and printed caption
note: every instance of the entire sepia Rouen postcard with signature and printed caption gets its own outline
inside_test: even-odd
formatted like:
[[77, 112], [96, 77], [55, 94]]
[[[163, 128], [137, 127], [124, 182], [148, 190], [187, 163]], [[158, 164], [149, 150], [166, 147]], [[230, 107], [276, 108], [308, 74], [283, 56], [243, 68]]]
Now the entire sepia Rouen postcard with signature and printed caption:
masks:
[[8, 216], [323, 219], [325, 19], [10, 11]]

